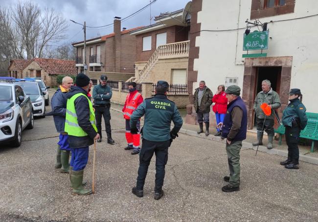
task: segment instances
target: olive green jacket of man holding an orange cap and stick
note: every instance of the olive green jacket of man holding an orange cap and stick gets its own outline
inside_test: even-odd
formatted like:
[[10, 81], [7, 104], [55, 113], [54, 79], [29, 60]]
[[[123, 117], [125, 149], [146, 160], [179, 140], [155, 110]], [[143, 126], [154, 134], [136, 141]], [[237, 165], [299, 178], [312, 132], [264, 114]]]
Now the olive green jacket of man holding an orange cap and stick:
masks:
[[[272, 105], [272, 113], [271, 116], [266, 117], [263, 110], [261, 109], [261, 104], [266, 102], [268, 105]], [[271, 88], [268, 93], [264, 93], [264, 91], [260, 91], [254, 100], [253, 109], [255, 111], [256, 117], [258, 119], [274, 119], [275, 114], [274, 110], [278, 109], [282, 104], [280, 103], [279, 95]]]

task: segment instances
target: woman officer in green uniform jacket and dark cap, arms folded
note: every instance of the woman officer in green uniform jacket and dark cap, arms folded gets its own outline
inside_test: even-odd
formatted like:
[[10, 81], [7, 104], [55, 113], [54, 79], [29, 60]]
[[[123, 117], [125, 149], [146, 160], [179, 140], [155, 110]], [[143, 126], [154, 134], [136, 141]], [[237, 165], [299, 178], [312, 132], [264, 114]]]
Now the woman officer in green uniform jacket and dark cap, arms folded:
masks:
[[298, 141], [300, 130], [307, 125], [306, 107], [301, 103], [300, 89], [291, 89], [290, 103], [283, 112], [282, 122], [285, 126], [285, 137], [288, 145], [288, 159], [280, 162], [287, 169], [298, 169]]

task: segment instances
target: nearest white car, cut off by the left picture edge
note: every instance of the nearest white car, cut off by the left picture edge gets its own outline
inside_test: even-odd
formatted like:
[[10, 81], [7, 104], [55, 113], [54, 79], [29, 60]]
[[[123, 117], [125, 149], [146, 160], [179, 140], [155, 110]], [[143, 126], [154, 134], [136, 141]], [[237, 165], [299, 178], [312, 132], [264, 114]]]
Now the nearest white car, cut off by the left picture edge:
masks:
[[32, 103], [21, 86], [0, 79], [0, 143], [18, 147], [22, 131], [34, 127]]

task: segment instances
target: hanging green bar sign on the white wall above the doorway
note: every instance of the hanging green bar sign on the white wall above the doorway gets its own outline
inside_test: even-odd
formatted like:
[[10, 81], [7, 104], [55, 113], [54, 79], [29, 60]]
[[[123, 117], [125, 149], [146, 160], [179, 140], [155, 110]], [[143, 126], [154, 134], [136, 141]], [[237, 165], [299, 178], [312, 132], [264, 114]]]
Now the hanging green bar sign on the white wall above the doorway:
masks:
[[268, 31], [254, 31], [243, 36], [243, 51], [268, 49]]

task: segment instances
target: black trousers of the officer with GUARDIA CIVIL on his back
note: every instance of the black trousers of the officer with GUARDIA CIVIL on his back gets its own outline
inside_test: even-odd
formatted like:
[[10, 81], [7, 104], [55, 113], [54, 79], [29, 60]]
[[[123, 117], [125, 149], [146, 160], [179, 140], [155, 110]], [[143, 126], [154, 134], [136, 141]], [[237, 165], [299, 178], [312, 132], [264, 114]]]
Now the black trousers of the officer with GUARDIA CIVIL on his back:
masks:
[[170, 140], [168, 141], [147, 141], [142, 139], [142, 146], [139, 153], [139, 169], [137, 177], [136, 188], [143, 190], [143, 185], [148, 172], [148, 166], [154, 153], [156, 154], [156, 181], [155, 181], [155, 192], [161, 191], [163, 186], [165, 165], [168, 161], [168, 148]]

